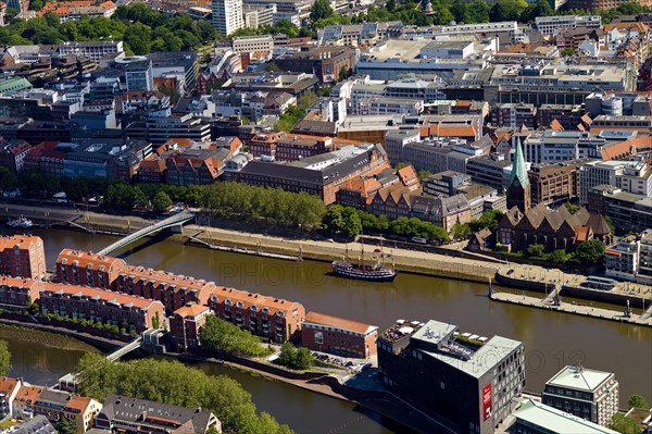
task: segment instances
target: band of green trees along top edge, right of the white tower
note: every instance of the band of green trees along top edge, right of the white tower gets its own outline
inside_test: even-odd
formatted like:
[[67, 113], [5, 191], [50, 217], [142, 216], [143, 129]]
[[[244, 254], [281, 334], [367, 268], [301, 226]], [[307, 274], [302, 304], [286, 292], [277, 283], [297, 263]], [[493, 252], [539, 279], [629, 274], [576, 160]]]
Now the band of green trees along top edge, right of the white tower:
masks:
[[555, 11], [548, 0], [528, 3], [526, 0], [498, 0], [490, 4], [484, 0], [431, 0], [431, 14], [424, 14], [424, 2], [388, 0], [385, 5], [371, 5], [366, 13], [349, 16], [335, 12], [328, 0], [316, 0], [311, 9], [311, 20], [315, 28], [335, 24], [400, 21], [405, 25], [429, 26], [518, 21], [531, 23], [537, 16], [562, 14], [600, 14], [603, 23], [610, 23], [616, 15], [636, 15], [649, 12], [650, 8], [635, 2], [623, 3], [617, 8], [592, 12], [584, 9]]

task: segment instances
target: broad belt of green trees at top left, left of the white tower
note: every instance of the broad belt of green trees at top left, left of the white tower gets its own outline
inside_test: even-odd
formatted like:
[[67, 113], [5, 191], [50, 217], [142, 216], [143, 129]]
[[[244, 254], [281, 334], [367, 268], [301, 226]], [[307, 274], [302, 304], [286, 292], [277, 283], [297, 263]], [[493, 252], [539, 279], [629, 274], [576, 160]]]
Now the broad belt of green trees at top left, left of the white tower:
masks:
[[195, 50], [216, 37], [209, 21], [192, 20], [188, 15], [171, 17], [146, 3], [121, 5], [110, 18], [84, 16], [61, 23], [58, 15], [48, 12], [29, 21], [14, 18], [8, 26], [0, 27], [1, 45], [113, 39], [123, 40], [127, 52], [134, 54]]

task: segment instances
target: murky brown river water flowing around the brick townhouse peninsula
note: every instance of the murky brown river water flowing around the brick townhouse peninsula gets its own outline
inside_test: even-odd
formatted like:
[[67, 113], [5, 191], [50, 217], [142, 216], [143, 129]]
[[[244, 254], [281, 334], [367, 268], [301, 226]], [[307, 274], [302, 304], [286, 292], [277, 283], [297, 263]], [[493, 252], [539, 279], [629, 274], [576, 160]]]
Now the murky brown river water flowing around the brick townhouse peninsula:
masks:
[[[64, 247], [97, 251], [115, 239], [67, 231], [34, 233], [45, 240], [49, 269]], [[528, 390], [540, 393], [544, 382], [561, 368], [580, 363], [614, 372], [620, 383], [623, 405], [635, 393], [652, 400], [651, 327], [490, 301], [486, 296], [487, 285], [482, 284], [405, 273], [399, 274], [393, 283], [361, 283], [327, 275], [327, 263], [263, 259], [165, 240], [141, 241], [124, 257], [131, 264], [297, 300], [306, 310], [368, 322], [381, 330], [397, 319], [436, 319], [451, 321], [462, 331], [479, 335], [516, 338], [526, 345]], [[14, 364], [21, 362], [14, 360]], [[259, 409], [269, 411], [301, 433], [402, 431], [379, 416], [361, 412], [347, 402], [223, 367], [201, 368], [236, 377], [252, 393]]]

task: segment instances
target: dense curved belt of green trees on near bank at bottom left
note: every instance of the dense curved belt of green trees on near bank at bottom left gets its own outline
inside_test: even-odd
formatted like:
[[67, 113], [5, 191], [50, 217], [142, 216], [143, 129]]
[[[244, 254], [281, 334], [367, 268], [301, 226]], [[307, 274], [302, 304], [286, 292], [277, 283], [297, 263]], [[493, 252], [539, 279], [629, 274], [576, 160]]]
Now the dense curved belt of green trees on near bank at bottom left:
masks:
[[104, 401], [108, 394], [212, 411], [224, 433], [289, 434], [266, 412], [256, 413], [251, 395], [226, 375], [208, 375], [178, 361], [140, 359], [112, 362], [86, 354], [77, 364], [79, 393]]

